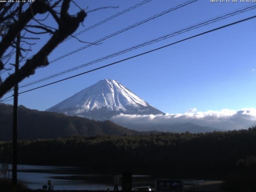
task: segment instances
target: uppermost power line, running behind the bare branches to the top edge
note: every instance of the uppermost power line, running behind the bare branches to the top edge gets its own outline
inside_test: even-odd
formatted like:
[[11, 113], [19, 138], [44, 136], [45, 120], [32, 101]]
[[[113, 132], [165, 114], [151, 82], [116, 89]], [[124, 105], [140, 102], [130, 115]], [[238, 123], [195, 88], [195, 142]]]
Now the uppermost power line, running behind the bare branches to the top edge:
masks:
[[[82, 31], [80, 31], [80, 32], [78, 32], [78, 33], [76, 33], [76, 34], [74, 34], [74, 35], [72, 35], [72, 36], [69, 36], [68, 38], [64, 39], [60, 44], [62, 44], [63, 42], [65, 42], [65, 41], [67, 41], [67, 40], [70, 40], [70, 39], [72, 39], [72, 38], [74, 38], [74, 37], [76, 37], [76, 36], [78, 36], [78, 35], [80, 35], [80, 34], [86, 32], [86, 31], [88, 31], [88, 30], [91, 30], [91, 29], [95, 28], [96, 26], [99, 26], [99, 25], [101, 25], [101, 24], [103, 24], [103, 23], [105, 23], [105, 22], [108, 22], [109, 20], [112, 20], [112, 19], [114, 19], [114, 18], [116, 18], [116, 17], [118, 17], [118, 16], [120, 16], [120, 15], [126, 13], [126, 12], [129, 12], [129, 11], [131, 11], [131, 10], [133, 10], [133, 9], [135, 9], [135, 8], [137, 8], [137, 7], [139, 7], [139, 6], [142, 6], [142, 5], [144, 5], [144, 4], [146, 4], [146, 3], [150, 2], [150, 1], [152, 1], [152, 0], [144, 0], [144, 1], [142, 1], [142, 2], [140, 2], [140, 3], [138, 3], [138, 4], [136, 4], [136, 5], [134, 5], [134, 6], [130, 7], [130, 8], [128, 8], [128, 9], [125, 9], [125, 10], [123, 10], [123, 11], [121, 11], [121, 12], [115, 14], [115, 15], [112, 15], [112, 16], [110, 16], [110, 17], [108, 17], [108, 18], [106, 18], [106, 19], [104, 19], [104, 20], [102, 20], [102, 21], [100, 21], [100, 22], [98, 22], [98, 23], [96, 23], [96, 24], [94, 24], [94, 25], [92, 25], [92, 26], [90, 26], [90, 27], [88, 27], [88, 28], [86, 28], [86, 29], [84, 29], [84, 30], [82, 30]], [[27, 5], [27, 6], [28, 6], [28, 5]], [[34, 55], [35, 55], [35, 54], [34, 54]], [[30, 57], [28, 57], [28, 58], [25, 58], [25, 59], [21, 60], [20, 62], [22, 63], [22, 62], [24, 62], [24, 61], [26, 61], [26, 60], [32, 58], [34, 55], [32, 55], [32, 56], [30, 56]], [[9, 67], [7, 70], [4, 70], [3, 72], [0, 72], [0, 75], [3, 74], [3, 73], [6, 72], [6, 71], [12, 69], [13, 67], [14, 67], [14, 66], [11, 66], [11, 67]]]

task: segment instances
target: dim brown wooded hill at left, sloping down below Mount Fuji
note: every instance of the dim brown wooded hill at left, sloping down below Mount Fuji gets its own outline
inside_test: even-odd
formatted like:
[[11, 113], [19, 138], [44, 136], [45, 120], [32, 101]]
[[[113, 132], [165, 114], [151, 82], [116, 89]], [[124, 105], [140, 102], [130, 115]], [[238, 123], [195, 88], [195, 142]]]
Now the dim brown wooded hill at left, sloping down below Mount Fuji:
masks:
[[[0, 103], [0, 141], [12, 140], [12, 105]], [[129, 130], [111, 121], [94, 121], [78, 116], [66, 116], [56, 112], [31, 110], [18, 107], [18, 139], [70, 137], [73, 135], [95, 136], [131, 135]]]

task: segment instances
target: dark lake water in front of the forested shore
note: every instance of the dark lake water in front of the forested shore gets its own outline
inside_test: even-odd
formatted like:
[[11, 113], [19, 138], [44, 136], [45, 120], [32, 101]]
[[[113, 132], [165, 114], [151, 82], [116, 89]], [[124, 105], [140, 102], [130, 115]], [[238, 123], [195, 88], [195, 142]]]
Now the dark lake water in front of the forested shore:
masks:
[[[1, 168], [2, 164], [0, 164]], [[12, 166], [9, 165], [11, 170]], [[54, 190], [113, 190], [113, 175], [83, 174], [83, 168], [61, 166], [18, 165], [18, 182], [30, 189], [42, 189], [43, 185], [54, 185]], [[12, 172], [9, 172], [11, 178]], [[2, 175], [0, 174], [0, 177]], [[151, 186], [154, 188], [154, 176], [132, 175], [132, 186]], [[120, 181], [121, 181], [120, 175]], [[204, 182], [205, 180], [184, 180], [185, 184]], [[122, 189], [120, 182], [119, 189]]]

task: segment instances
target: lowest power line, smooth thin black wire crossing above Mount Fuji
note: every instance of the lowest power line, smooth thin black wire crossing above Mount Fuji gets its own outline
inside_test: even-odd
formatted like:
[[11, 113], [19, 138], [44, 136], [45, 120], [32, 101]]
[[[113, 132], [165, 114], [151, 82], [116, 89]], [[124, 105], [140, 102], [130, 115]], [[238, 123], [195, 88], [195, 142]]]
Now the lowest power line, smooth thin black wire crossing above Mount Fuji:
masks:
[[123, 62], [123, 61], [126, 61], [126, 60], [130, 60], [132, 58], [135, 58], [135, 57], [138, 57], [138, 56], [142, 56], [144, 54], [148, 54], [150, 52], [154, 52], [156, 50], [160, 50], [162, 48], [166, 48], [168, 46], [171, 46], [171, 45], [174, 45], [174, 44], [177, 44], [177, 43], [180, 43], [180, 42], [183, 42], [183, 41], [186, 41], [186, 40], [189, 40], [189, 39], [192, 39], [192, 38], [195, 38], [195, 37], [198, 37], [198, 36], [201, 36], [201, 35], [204, 35], [204, 34], [207, 34], [207, 33], [210, 33], [210, 32], [213, 32], [213, 31], [216, 31], [216, 30], [220, 30], [222, 28], [226, 28], [228, 26], [232, 26], [234, 24], [238, 24], [240, 22], [244, 22], [244, 21], [247, 21], [247, 20], [250, 20], [250, 19], [253, 19], [253, 18], [256, 18], [256, 15], [255, 16], [252, 16], [252, 17], [249, 17], [249, 18], [245, 18], [245, 19], [242, 19], [242, 20], [239, 20], [239, 21], [236, 21], [236, 22], [233, 22], [233, 23], [230, 23], [230, 24], [227, 24], [227, 25], [224, 25], [224, 26], [221, 26], [221, 27], [218, 27], [218, 28], [214, 28], [212, 30], [208, 30], [206, 32], [202, 32], [200, 34], [197, 34], [197, 35], [194, 35], [194, 36], [190, 36], [188, 38], [185, 38], [185, 39], [182, 39], [182, 40], [179, 40], [179, 41], [176, 41], [174, 43], [171, 43], [171, 44], [168, 44], [168, 45], [165, 45], [165, 46], [161, 46], [161, 47], [158, 47], [158, 48], [155, 48], [155, 49], [152, 49], [150, 51], [147, 51], [147, 52], [143, 52], [141, 54], [137, 54], [137, 55], [134, 55], [134, 56], [131, 56], [129, 58], [125, 58], [125, 59], [122, 59], [122, 60], [119, 60], [117, 62], [113, 62], [111, 64], [108, 64], [108, 65], [104, 65], [104, 66], [101, 66], [101, 67], [98, 67], [98, 68], [95, 68], [95, 69], [92, 69], [92, 70], [89, 70], [89, 71], [86, 71], [86, 72], [83, 72], [83, 73], [80, 73], [80, 74], [76, 74], [74, 76], [70, 76], [68, 78], [64, 78], [64, 79], [61, 79], [61, 80], [58, 80], [58, 81], [55, 81], [55, 82], [52, 82], [52, 83], [48, 83], [48, 84], [45, 84], [45, 85], [42, 85], [42, 86], [38, 86], [36, 88], [33, 88], [33, 89], [30, 89], [30, 90], [26, 90], [26, 91], [23, 91], [23, 92], [20, 92], [19, 94], [22, 94], [22, 93], [26, 93], [26, 92], [30, 92], [32, 90], [36, 90], [36, 89], [39, 89], [39, 88], [42, 88], [42, 87], [45, 87], [45, 86], [48, 86], [48, 85], [52, 85], [52, 84], [55, 84], [55, 83], [58, 83], [58, 82], [62, 82], [64, 80], [68, 80], [68, 79], [71, 79], [71, 78], [74, 78], [74, 77], [77, 77], [77, 76], [80, 76], [80, 75], [83, 75], [83, 74], [86, 74], [86, 73], [89, 73], [89, 72], [93, 72], [93, 71], [96, 71], [96, 70], [99, 70], [99, 69], [102, 69], [102, 68], [105, 68], [105, 67], [108, 67], [108, 66], [111, 66], [111, 65], [114, 65], [114, 64], [117, 64], [117, 63], [120, 63], [120, 62]]

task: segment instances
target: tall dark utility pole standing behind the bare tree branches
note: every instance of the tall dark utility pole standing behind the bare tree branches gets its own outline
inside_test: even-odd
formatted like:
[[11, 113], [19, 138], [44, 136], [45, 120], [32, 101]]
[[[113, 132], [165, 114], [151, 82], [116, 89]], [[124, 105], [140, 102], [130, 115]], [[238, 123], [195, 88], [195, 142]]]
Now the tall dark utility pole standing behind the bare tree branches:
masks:
[[[22, 4], [19, 4], [18, 18], [22, 12]], [[20, 32], [16, 38], [15, 74], [19, 70], [20, 60]], [[18, 127], [18, 83], [14, 86], [13, 99], [13, 125], [12, 125], [12, 190], [17, 191], [17, 127]]]

